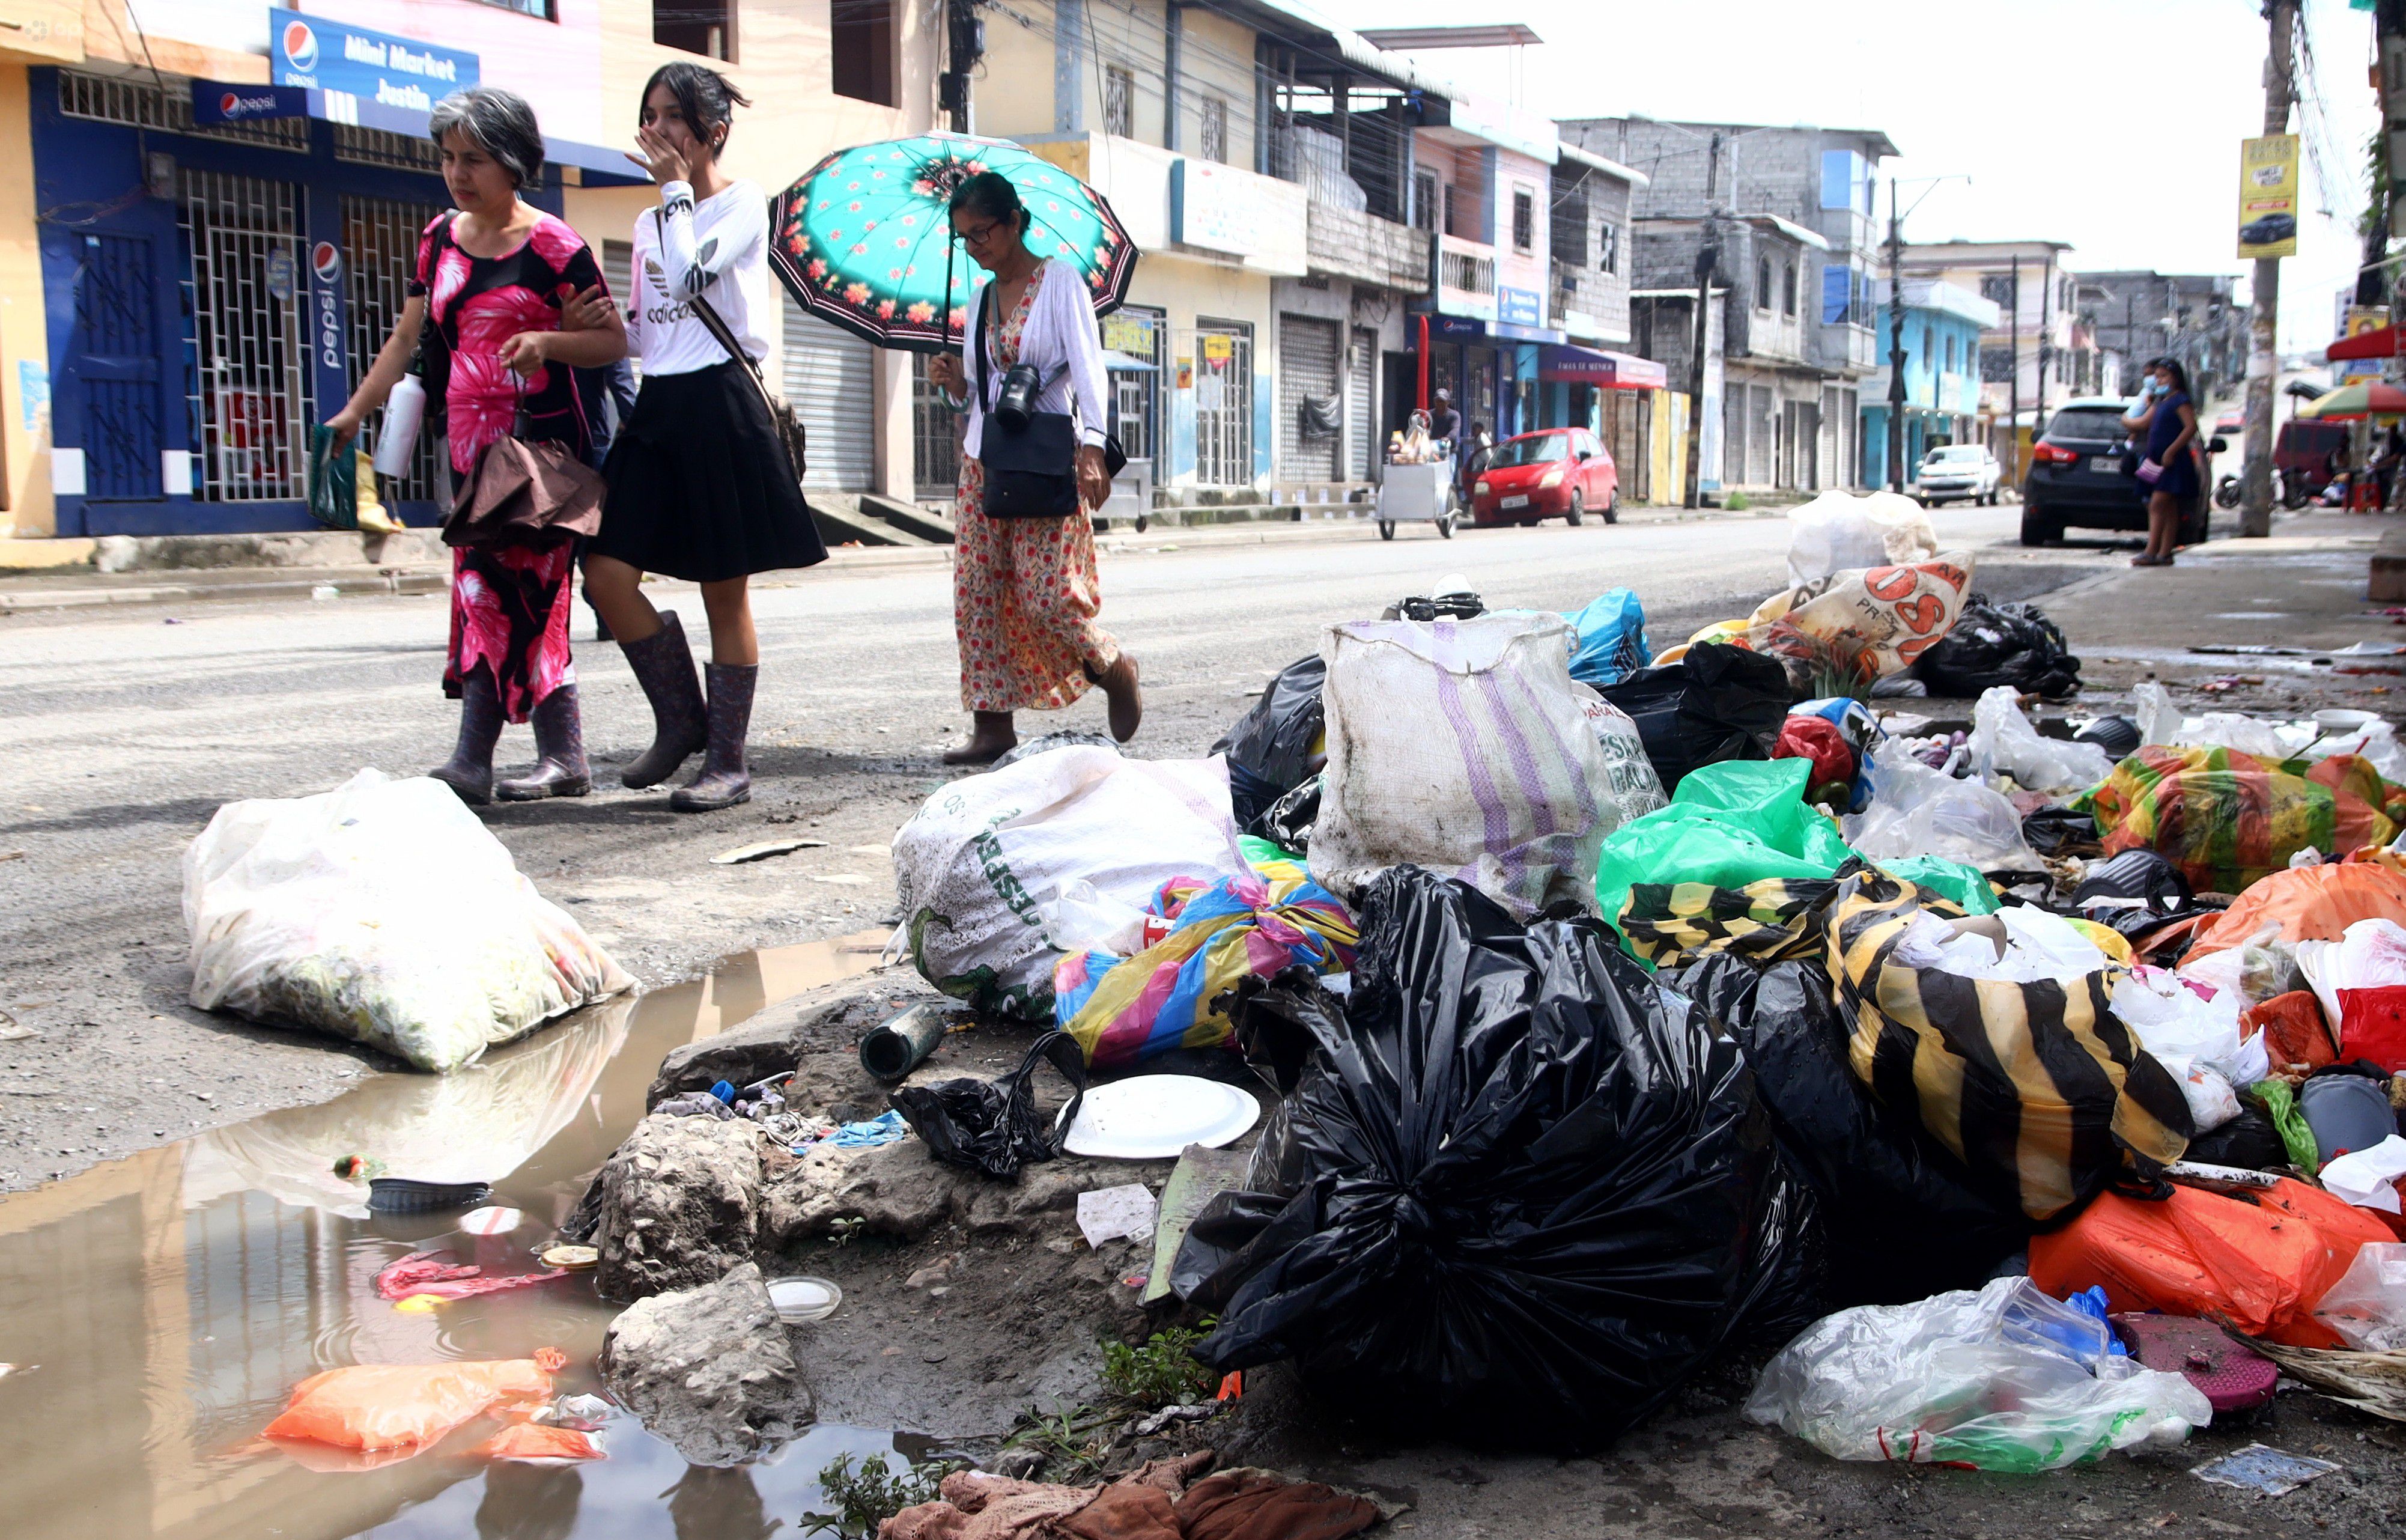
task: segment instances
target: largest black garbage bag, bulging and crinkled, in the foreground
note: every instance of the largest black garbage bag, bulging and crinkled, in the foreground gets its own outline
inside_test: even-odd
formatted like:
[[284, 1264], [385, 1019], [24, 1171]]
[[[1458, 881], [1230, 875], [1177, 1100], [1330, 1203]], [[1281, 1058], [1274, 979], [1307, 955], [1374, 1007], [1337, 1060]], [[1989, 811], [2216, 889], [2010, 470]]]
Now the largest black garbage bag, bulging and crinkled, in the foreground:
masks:
[[1359, 914], [1350, 1003], [1299, 970], [1234, 1003], [1256, 1047], [1266, 1018], [1309, 1037], [1302, 1186], [1217, 1237], [1203, 1362], [1292, 1357], [1395, 1437], [1571, 1453], [1817, 1314], [1812, 1196], [1744, 1056], [1607, 926], [1521, 929], [1417, 866]]

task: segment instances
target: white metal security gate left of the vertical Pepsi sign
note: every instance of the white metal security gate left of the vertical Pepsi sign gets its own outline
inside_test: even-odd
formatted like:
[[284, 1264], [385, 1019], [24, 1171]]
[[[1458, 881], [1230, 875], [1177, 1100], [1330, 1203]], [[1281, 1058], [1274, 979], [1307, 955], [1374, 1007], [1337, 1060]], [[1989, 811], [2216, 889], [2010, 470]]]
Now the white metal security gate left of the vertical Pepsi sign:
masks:
[[[308, 238], [298, 190], [255, 176], [180, 171], [192, 260], [188, 407], [205, 503], [308, 496]], [[282, 253], [282, 260], [277, 260]], [[284, 294], [279, 296], [277, 289]]]

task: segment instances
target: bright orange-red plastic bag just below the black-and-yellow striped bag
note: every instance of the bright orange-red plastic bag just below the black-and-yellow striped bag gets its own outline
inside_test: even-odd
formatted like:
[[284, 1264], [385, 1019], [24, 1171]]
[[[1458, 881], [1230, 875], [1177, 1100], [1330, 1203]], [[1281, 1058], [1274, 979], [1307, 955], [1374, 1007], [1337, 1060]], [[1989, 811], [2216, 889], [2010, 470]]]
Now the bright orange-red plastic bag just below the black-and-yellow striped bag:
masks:
[[2228, 1321], [2291, 1348], [2343, 1348], [2315, 1319], [2365, 1242], [2394, 1239], [2370, 1213], [2288, 1177], [2259, 1203], [2175, 1186], [2153, 1203], [2103, 1191], [2031, 1239], [2031, 1283], [2057, 1299], [2105, 1285], [2112, 1309]]

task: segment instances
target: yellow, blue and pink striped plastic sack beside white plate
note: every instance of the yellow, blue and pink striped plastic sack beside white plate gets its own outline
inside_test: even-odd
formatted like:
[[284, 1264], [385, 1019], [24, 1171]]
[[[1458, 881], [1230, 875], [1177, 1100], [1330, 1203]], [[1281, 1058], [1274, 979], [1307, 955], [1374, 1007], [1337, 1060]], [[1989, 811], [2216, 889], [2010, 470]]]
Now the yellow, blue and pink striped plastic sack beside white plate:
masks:
[[1237, 979], [1352, 967], [1352, 914], [1294, 861], [1165, 883], [1152, 912], [1174, 922], [1172, 931], [1133, 958], [1071, 953], [1054, 970], [1054, 1018], [1095, 1068], [1229, 1047], [1217, 1001]]

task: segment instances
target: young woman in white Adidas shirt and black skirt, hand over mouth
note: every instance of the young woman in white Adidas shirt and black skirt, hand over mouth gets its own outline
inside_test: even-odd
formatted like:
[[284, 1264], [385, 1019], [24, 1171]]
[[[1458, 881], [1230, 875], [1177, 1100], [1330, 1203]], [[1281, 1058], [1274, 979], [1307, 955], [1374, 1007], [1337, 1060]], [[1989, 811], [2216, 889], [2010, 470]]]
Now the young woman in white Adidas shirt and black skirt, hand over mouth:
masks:
[[[659, 784], [700, 748], [700, 775], [669, 796], [686, 813], [751, 799], [743, 736], [760, 640], [746, 580], [828, 558], [760, 387], [746, 378], [768, 354], [775, 310], [768, 197], [719, 168], [739, 103], [751, 106], [700, 65], [662, 65], [642, 89], [628, 159], [659, 183], [659, 207], [635, 219], [626, 320], [642, 392], [602, 467], [609, 500], [585, 558], [585, 597], [652, 703], [652, 746], [618, 780]], [[729, 359], [695, 301], [717, 310], [748, 359]], [[707, 700], [676, 614], [652, 609], [638, 587], [645, 573], [703, 585]]]

